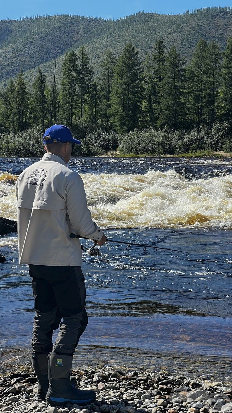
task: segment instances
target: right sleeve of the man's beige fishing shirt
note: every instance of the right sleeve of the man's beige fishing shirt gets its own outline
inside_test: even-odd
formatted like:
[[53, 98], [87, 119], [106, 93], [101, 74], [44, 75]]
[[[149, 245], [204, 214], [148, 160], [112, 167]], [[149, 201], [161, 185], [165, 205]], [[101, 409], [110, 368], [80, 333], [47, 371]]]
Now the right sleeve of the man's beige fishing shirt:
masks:
[[80, 175], [76, 174], [76, 177], [69, 181], [65, 194], [71, 231], [76, 235], [99, 241], [103, 232], [91, 219], [84, 184]]

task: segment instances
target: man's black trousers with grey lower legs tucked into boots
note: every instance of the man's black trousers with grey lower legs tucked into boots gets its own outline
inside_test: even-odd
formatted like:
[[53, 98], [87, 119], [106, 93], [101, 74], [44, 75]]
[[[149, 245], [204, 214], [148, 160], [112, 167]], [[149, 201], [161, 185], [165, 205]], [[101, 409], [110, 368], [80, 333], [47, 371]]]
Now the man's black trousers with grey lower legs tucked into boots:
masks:
[[[88, 324], [81, 267], [29, 264], [35, 311], [33, 351], [73, 354]], [[52, 333], [59, 327], [57, 339]]]

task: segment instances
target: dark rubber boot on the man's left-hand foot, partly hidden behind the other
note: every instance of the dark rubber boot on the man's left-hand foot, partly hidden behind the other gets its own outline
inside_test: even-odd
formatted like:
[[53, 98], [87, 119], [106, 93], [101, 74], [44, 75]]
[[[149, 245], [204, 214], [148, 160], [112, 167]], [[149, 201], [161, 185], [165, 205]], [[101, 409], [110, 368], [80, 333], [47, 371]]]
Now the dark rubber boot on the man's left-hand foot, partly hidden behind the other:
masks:
[[33, 352], [31, 361], [39, 383], [38, 399], [45, 400], [48, 390], [47, 354]]

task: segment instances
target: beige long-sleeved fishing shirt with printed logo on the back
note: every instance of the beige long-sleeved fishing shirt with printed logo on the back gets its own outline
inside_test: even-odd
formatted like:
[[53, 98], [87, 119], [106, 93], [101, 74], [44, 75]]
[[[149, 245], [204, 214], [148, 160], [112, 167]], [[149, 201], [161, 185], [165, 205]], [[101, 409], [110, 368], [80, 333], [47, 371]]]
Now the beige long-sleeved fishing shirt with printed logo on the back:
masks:
[[19, 263], [81, 266], [78, 238], [102, 238], [92, 221], [80, 175], [57, 155], [45, 154], [16, 183]]

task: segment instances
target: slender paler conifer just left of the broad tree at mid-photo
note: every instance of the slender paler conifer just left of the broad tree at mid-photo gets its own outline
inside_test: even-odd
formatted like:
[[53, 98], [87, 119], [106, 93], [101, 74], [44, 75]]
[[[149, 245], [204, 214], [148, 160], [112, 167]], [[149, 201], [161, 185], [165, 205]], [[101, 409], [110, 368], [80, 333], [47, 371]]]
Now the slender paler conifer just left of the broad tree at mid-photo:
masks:
[[99, 93], [101, 100], [100, 116], [102, 119], [109, 120], [110, 118], [110, 95], [113, 82], [115, 55], [111, 50], [107, 50], [104, 54], [104, 61], [100, 65], [100, 74], [98, 76]]

